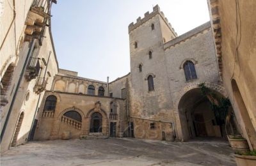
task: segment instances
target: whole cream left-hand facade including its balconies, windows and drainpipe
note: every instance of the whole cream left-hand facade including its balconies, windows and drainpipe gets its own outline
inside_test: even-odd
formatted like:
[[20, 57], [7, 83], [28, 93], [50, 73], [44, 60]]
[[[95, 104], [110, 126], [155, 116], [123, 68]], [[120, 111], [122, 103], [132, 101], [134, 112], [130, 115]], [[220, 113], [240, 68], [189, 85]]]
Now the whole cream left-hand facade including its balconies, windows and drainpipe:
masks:
[[[44, 91], [51, 89], [54, 75], [58, 73], [51, 20], [47, 16], [35, 16], [42, 11], [35, 10], [34, 3], [1, 2], [1, 152], [28, 141]], [[40, 19], [43, 22], [39, 22]], [[43, 40], [36, 37], [41, 31], [45, 36]], [[36, 38], [28, 41], [29, 36]]]

